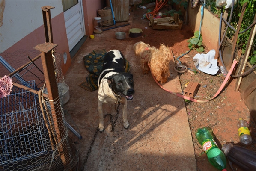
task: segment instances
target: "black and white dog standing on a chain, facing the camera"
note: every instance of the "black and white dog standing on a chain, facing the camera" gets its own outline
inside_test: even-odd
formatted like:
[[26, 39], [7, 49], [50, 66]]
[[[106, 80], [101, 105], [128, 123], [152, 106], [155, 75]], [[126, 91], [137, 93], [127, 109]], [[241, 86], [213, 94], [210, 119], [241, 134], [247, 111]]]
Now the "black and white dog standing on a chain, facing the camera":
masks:
[[98, 87], [99, 131], [105, 129], [102, 104], [118, 103], [118, 100], [122, 104], [124, 127], [128, 129], [127, 100], [133, 99], [134, 81], [133, 75], [125, 72], [125, 57], [119, 50], [110, 50], [104, 56]]

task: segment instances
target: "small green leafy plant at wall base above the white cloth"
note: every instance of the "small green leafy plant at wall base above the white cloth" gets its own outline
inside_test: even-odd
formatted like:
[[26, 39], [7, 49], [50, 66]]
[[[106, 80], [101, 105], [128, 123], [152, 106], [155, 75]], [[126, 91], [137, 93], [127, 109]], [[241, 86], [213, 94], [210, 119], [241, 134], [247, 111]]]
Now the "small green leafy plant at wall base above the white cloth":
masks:
[[189, 49], [196, 49], [197, 52], [203, 52], [202, 36], [199, 38], [199, 35], [199, 31], [194, 33], [194, 36], [188, 40], [188, 47]]

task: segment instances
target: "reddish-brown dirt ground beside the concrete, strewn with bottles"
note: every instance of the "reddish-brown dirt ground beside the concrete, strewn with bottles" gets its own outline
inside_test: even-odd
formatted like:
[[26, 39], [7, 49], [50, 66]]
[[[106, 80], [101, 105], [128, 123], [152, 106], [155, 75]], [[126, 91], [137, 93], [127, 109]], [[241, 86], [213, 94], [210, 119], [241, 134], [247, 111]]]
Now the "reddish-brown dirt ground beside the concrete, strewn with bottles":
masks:
[[[193, 36], [192, 30], [188, 25], [183, 24], [181, 30], [153, 30], [149, 27], [147, 20], [142, 20], [141, 17], [146, 10], [131, 8], [131, 12], [134, 12], [133, 27], [143, 29], [143, 42], [150, 44], [151, 46], [159, 47], [159, 45], [165, 44], [171, 47], [173, 55], [178, 57], [189, 50], [188, 39]], [[217, 36], [217, 35], [216, 35]], [[136, 38], [130, 38], [136, 41]], [[141, 41], [141, 38], [137, 38], [137, 41]], [[205, 52], [209, 50], [205, 47]], [[196, 55], [195, 50], [188, 53], [187, 57], [180, 58], [182, 65], [185, 65], [191, 69], [195, 69], [193, 57]], [[222, 65], [218, 62], [218, 65]], [[170, 68], [170, 70], [173, 70]], [[214, 96], [220, 85], [223, 83], [223, 76], [209, 75], [203, 72], [197, 74], [191, 74], [186, 72], [179, 74], [182, 90], [185, 89], [185, 84], [188, 82], [199, 83], [199, 90], [194, 98], [199, 100], [208, 100]], [[188, 114], [188, 121], [191, 128], [191, 134], [193, 137], [194, 150], [197, 160], [198, 171], [216, 171], [217, 169], [211, 166], [208, 162], [206, 154], [203, 152], [201, 145], [197, 142], [195, 132], [200, 127], [210, 127], [215, 135], [215, 141], [221, 148], [226, 142], [234, 142], [239, 146], [239, 137], [237, 133], [237, 123], [239, 118], [244, 118], [248, 123], [254, 139], [253, 144], [246, 147], [250, 150], [256, 151], [256, 130], [255, 123], [250, 116], [250, 112], [244, 101], [241, 100], [240, 93], [235, 92], [235, 79], [229, 80], [229, 83], [225, 86], [223, 91], [207, 103], [195, 103], [186, 101], [186, 108]], [[171, 90], [170, 90], [171, 91]], [[227, 163], [228, 170], [231, 170], [230, 165]], [[239, 167], [233, 165], [236, 171], [241, 171]]]

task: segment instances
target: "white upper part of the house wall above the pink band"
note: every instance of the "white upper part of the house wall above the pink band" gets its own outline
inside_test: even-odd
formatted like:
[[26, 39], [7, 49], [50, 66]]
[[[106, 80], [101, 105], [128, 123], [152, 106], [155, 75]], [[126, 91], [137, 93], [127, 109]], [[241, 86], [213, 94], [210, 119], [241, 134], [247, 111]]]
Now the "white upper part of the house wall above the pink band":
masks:
[[42, 6], [54, 6], [51, 18], [63, 12], [61, 0], [6, 0], [0, 27], [0, 53], [42, 26]]

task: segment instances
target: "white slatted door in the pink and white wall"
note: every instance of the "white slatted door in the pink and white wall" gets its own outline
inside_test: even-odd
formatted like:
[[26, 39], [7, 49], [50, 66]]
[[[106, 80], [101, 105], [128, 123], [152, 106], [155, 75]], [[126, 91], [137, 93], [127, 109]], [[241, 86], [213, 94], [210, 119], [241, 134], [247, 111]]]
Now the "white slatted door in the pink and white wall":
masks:
[[69, 51], [85, 35], [82, 0], [62, 0]]

